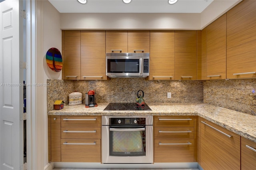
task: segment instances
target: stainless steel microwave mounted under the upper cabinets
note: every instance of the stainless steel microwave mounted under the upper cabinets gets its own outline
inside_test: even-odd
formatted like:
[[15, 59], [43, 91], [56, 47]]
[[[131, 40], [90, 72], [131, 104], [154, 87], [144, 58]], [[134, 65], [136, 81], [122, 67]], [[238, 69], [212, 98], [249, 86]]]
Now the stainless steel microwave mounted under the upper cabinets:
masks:
[[149, 53], [106, 53], [108, 77], [148, 77]]

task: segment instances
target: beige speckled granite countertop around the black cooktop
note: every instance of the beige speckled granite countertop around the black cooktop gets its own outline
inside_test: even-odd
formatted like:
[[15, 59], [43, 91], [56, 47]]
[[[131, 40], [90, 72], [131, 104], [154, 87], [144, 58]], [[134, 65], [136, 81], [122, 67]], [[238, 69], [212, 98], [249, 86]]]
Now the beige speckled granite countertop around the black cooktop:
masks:
[[256, 142], [256, 116], [216, 107], [205, 103], [147, 103], [152, 111], [104, 111], [108, 103], [98, 107], [65, 105], [64, 109], [49, 111], [48, 115], [198, 115], [240, 136]]

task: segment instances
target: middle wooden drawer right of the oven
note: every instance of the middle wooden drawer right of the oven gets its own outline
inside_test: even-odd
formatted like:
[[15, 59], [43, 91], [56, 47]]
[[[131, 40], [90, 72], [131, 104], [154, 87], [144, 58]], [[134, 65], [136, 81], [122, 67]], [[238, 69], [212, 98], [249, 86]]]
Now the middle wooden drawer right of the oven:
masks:
[[193, 139], [194, 127], [155, 127], [155, 139]]

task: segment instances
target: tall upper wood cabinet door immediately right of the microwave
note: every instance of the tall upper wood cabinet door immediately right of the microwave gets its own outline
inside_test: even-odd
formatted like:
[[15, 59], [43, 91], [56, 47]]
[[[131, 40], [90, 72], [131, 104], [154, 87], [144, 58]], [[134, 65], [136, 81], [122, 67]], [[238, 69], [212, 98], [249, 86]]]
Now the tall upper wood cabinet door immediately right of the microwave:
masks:
[[150, 80], [174, 80], [174, 31], [150, 31]]

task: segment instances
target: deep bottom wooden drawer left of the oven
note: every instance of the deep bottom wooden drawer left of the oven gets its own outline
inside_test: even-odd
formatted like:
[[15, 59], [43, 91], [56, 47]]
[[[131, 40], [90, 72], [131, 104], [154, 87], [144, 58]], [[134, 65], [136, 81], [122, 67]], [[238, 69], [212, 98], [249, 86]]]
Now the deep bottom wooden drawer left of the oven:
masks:
[[100, 139], [62, 139], [61, 162], [100, 162]]

